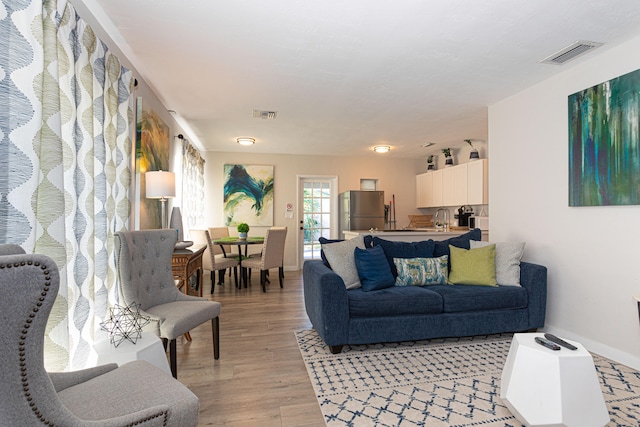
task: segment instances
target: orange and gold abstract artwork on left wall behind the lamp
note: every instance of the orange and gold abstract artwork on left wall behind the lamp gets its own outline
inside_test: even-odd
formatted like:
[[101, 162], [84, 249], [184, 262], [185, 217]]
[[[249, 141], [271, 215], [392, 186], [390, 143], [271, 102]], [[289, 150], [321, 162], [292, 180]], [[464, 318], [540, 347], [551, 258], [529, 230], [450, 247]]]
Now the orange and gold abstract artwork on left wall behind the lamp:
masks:
[[161, 227], [160, 202], [147, 199], [145, 172], [168, 171], [169, 126], [152, 109], [143, 107], [142, 97], [136, 100], [136, 194], [134, 222], [136, 230]]

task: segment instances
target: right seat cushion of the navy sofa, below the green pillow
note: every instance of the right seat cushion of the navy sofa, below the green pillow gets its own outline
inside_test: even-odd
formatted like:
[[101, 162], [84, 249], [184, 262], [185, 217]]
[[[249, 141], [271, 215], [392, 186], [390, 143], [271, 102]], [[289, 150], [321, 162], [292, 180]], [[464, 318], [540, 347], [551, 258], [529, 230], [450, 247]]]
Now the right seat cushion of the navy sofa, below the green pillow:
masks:
[[527, 308], [527, 290], [519, 286], [434, 285], [445, 313]]

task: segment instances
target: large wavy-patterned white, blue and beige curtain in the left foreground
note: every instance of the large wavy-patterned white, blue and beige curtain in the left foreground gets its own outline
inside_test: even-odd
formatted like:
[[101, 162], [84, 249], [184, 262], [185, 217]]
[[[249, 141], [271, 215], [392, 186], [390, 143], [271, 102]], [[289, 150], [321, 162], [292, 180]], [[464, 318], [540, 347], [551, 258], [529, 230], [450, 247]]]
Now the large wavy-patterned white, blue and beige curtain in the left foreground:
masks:
[[133, 78], [66, 0], [3, 1], [0, 34], [0, 243], [57, 263], [45, 363], [82, 368], [117, 299]]

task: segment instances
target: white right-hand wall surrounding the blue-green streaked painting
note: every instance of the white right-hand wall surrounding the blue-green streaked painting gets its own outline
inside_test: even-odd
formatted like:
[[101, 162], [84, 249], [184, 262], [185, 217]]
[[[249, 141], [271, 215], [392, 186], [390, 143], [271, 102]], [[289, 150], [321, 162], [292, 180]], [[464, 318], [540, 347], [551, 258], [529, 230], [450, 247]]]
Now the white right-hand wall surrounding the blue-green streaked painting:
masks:
[[[545, 329], [640, 369], [640, 206], [568, 206], [567, 97], [640, 68], [640, 38], [489, 108], [492, 241], [548, 272]], [[545, 66], [545, 65], [532, 65]]]

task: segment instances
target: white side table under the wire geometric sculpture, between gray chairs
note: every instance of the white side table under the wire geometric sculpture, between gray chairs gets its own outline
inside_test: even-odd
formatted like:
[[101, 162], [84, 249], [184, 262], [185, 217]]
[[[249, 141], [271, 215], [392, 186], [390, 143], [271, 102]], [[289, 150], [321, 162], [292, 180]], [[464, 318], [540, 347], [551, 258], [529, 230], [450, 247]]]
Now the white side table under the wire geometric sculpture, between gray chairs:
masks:
[[143, 332], [142, 337], [135, 344], [124, 340], [116, 347], [107, 338], [95, 343], [93, 349], [98, 353], [98, 365], [105, 363], [122, 365], [134, 360], [146, 360], [171, 375], [162, 341], [151, 332]]

